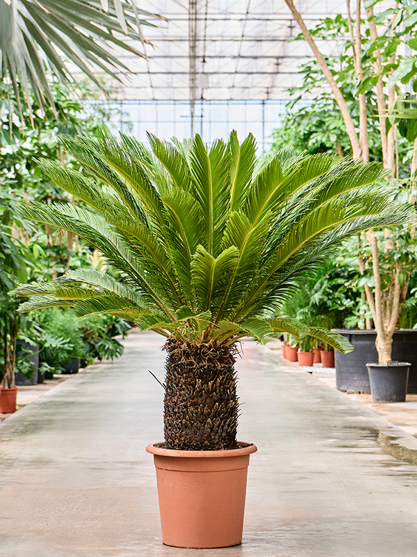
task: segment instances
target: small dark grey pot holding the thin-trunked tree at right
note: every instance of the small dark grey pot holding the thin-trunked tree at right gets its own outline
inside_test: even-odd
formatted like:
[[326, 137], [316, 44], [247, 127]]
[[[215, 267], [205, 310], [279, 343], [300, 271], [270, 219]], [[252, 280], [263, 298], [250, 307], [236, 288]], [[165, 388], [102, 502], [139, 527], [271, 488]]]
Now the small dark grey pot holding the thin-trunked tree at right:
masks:
[[374, 402], [405, 402], [409, 362], [367, 363], [370, 392]]

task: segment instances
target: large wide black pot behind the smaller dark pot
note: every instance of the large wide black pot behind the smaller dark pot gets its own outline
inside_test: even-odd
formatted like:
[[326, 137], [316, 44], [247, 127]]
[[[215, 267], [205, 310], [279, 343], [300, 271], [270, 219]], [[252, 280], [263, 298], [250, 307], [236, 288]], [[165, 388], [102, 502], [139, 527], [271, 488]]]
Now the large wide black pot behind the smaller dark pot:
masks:
[[[353, 352], [335, 350], [336, 389], [346, 393], [370, 393], [368, 362], [378, 361], [375, 329], [333, 329], [354, 346]], [[399, 329], [393, 336], [393, 361], [409, 362], [407, 393], [417, 394], [417, 330]]]

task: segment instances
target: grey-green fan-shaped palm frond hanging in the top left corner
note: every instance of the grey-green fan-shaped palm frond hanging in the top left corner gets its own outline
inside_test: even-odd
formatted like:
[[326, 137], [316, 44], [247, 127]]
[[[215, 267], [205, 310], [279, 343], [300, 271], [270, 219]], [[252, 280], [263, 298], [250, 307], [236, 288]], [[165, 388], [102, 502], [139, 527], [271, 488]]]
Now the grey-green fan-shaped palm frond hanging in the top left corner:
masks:
[[144, 56], [117, 33], [143, 42], [140, 26], [151, 24], [149, 19], [155, 18], [161, 19], [136, 8], [134, 0], [111, 0], [106, 10], [100, 0], [1, 0], [1, 77], [6, 77], [15, 93], [18, 85], [22, 86], [24, 98], [16, 94], [20, 110], [21, 102], [31, 107], [28, 84], [40, 107], [45, 97], [54, 105], [49, 72], [60, 81], [74, 81], [60, 53], [100, 86], [95, 76], [97, 68], [115, 79], [119, 79], [117, 72], [128, 70], [112, 48]]

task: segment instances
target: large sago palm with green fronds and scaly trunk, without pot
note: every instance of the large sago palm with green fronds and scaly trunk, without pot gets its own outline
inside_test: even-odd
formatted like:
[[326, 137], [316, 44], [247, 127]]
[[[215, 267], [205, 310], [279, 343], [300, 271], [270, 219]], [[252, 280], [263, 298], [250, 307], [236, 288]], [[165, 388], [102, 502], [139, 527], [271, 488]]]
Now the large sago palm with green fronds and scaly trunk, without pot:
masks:
[[254, 173], [255, 141], [165, 143], [128, 136], [64, 136], [92, 178], [56, 162], [42, 168], [92, 207], [20, 205], [25, 217], [71, 230], [104, 254], [117, 278], [68, 271], [54, 283], [22, 285], [21, 311], [70, 306], [110, 313], [165, 336], [165, 446], [236, 447], [236, 343], [286, 331], [342, 352], [344, 338], [274, 315], [295, 285], [346, 237], [404, 222], [409, 210], [372, 185], [381, 164], [279, 152]]

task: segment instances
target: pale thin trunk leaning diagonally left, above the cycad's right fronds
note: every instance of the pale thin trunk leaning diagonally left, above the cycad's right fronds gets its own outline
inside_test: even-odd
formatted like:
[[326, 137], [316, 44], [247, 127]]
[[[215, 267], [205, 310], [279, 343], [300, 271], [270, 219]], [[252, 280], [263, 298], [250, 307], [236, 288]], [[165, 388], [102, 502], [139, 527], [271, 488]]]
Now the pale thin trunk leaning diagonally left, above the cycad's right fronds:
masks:
[[302, 34], [304, 35], [306, 42], [308, 42], [309, 46], [311, 47], [311, 50], [313, 51], [314, 56], [316, 56], [318, 65], [320, 66], [320, 69], [325, 75], [325, 78], [327, 79], [327, 83], [332, 88], [334, 98], [336, 99], [338, 107], [342, 113], [343, 120], [345, 122], [347, 135], [349, 136], [350, 139], [350, 144], [352, 145], [352, 155], [354, 158], [361, 157], [362, 155], [361, 146], [359, 145], [357, 132], [354, 129], [352, 116], [350, 116], [350, 111], [347, 108], [345, 98], [343, 97], [343, 94], [340, 88], [338, 87], [338, 84], [336, 84], [336, 81], [334, 80], [332, 72], [330, 71], [329, 66], [326, 63], [325, 58], [322, 57], [322, 54], [320, 53], [320, 50], [318, 49], [316, 42], [314, 42], [314, 39], [311, 36], [309, 29], [307, 29], [306, 24], [304, 23], [304, 19], [302, 19], [302, 15], [295, 8], [293, 0], [285, 0], [285, 1], [288, 8], [290, 8], [291, 10], [291, 13], [293, 14], [295, 21], [300, 26], [300, 29], [302, 31]]

